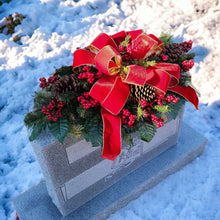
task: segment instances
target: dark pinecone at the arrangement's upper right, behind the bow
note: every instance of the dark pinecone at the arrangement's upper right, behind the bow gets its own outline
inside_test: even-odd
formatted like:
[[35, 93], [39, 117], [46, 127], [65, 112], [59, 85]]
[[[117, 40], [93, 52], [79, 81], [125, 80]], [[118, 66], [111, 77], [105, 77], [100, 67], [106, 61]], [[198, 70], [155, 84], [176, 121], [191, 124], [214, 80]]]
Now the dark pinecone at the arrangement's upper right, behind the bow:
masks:
[[164, 47], [163, 55], [168, 56], [168, 62], [175, 63], [182, 56], [182, 47], [177, 43], [171, 43]]

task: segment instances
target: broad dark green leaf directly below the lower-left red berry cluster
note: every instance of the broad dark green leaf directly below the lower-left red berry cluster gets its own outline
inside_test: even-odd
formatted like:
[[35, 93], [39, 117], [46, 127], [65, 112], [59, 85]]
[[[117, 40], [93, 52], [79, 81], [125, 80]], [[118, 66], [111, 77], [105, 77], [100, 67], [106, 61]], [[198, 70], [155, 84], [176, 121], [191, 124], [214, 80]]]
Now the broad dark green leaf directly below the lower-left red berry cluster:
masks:
[[60, 143], [63, 143], [64, 138], [68, 134], [69, 121], [66, 118], [58, 118], [56, 122], [50, 122], [48, 128], [51, 133], [57, 138]]

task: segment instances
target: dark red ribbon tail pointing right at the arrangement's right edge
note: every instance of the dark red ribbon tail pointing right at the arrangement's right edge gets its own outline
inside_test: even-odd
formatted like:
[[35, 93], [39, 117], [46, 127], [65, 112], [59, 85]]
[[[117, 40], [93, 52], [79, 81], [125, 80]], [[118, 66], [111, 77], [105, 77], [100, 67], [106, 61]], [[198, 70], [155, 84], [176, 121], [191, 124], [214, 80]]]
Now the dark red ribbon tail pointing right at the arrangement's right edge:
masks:
[[177, 85], [172, 88], [169, 88], [168, 90], [183, 96], [187, 101], [191, 102], [197, 110], [199, 110], [199, 99], [195, 90], [192, 87]]

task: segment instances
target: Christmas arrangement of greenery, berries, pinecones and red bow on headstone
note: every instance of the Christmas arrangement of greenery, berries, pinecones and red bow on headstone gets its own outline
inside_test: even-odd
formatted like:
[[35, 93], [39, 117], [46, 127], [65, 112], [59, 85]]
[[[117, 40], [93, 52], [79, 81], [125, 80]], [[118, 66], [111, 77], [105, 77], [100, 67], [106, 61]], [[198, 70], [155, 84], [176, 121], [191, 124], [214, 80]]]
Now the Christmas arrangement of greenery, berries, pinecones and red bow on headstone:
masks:
[[198, 109], [189, 70], [192, 41], [173, 43], [142, 30], [101, 33], [74, 52], [72, 66], [40, 79], [34, 109], [24, 119], [33, 141], [46, 128], [62, 143], [68, 133], [103, 146], [102, 157], [114, 160], [121, 139], [131, 133], [151, 141], [157, 128], [178, 115], [185, 100]]

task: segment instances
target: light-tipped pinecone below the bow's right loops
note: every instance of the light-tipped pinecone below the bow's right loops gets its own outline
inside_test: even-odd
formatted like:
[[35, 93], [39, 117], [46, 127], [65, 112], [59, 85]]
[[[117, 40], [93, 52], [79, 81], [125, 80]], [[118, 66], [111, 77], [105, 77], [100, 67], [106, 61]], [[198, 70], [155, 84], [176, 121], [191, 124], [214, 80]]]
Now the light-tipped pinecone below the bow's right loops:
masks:
[[146, 100], [147, 102], [152, 102], [155, 97], [156, 90], [150, 85], [130, 85], [130, 95], [128, 100], [131, 102], [139, 102], [142, 99]]

